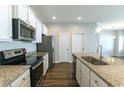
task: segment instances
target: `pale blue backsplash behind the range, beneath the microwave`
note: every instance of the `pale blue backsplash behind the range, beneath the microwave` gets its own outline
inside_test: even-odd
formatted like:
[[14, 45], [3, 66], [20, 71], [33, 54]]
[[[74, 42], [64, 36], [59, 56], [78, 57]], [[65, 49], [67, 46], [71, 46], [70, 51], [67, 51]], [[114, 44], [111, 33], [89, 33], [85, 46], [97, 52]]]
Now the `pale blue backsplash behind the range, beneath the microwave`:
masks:
[[31, 51], [36, 51], [36, 44], [31, 42], [24, 42], [24, 41], [13, 41], [13, 42], [0, 41], [0, 51], [16, 49], [16, 48], [25, 48], [27, 52], [31, 52]]

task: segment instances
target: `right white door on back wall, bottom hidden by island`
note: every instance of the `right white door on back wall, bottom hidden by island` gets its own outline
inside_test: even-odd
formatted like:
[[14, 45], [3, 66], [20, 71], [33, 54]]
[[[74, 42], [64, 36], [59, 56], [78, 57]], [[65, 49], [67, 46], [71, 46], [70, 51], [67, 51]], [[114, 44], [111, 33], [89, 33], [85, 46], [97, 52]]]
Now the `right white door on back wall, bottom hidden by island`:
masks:
[[72, 52], [84, 51], [84, 33], [72, 33]]

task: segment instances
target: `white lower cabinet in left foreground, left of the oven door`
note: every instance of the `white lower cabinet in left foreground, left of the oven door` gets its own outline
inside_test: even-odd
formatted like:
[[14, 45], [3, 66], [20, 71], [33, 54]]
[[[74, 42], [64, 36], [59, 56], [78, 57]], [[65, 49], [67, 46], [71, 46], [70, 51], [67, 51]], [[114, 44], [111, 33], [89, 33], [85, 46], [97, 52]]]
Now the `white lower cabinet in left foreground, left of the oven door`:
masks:
[[18, 79], [16, 79], [10, 87], [30, 87], [30, 70], [22, 74]]

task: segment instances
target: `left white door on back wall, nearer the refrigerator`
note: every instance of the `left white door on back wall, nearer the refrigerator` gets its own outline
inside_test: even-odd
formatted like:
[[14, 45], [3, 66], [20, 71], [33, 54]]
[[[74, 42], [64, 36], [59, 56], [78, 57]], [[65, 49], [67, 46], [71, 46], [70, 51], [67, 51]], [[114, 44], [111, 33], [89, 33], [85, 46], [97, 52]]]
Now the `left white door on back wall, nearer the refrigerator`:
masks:
[[69, 62], [69, 36], [67, 32], [59, 35], [59, 62]]

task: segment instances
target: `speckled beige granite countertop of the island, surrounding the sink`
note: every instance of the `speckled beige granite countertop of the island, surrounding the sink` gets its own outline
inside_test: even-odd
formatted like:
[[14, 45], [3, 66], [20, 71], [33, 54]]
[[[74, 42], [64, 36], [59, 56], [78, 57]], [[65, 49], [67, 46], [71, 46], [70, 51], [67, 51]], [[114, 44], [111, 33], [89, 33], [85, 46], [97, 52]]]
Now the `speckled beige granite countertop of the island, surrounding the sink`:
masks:
[[116, 57], [104, 57], [102, 61], [109, 65], [93, 65], [82, 59], [82, 56], [92, 56], [99, 59], [97, 53], [73, 53], [79, 60], [81, 60], [87, 67], [95, 72], [101, 79], [103, 79], [110, 86], [124, 87], [124, 59]]

